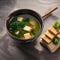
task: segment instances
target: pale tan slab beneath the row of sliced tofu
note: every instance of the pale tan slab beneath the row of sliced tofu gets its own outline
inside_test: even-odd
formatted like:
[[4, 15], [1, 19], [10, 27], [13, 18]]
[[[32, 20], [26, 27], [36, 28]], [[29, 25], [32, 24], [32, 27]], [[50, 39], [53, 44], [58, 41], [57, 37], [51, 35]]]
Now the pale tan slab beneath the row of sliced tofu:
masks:
[[52, 42], [50, 44], [46, 44], [43, 40], [40, 42], [43, 46], [47, 47], [51, 53], [54, 53], [60, 47], [60, 41], [58, 45], [54, 45]]

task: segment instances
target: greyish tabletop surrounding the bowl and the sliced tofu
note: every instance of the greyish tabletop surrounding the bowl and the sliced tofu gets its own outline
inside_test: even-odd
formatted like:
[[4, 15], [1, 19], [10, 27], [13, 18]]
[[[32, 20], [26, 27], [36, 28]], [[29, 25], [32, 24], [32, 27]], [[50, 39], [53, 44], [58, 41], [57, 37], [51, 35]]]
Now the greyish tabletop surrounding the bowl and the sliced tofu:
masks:
[[8, 15], [17, 9], [32, 9], [41, 16], [51, 8], [58, 6], [58, 10], [44, 20], [44, 28], [41, 35], [54, 24], [60, 22], [60, 0], [52, 3], [42, 3], [40, 0], [0, 0], [0, 60], [60, 60], [60, 48], [54, 53], [40, 45], [40, 37], [35, 45], [21, 46], [11, 39], [6, 31]]

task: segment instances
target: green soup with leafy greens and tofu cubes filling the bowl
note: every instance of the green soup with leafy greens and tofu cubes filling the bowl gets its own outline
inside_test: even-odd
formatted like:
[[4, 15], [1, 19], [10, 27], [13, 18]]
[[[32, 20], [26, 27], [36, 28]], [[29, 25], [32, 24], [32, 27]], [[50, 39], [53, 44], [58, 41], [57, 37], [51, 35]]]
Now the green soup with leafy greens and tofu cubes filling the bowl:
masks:
[[31, 15], [14, 16], [9, 22], [11, 34], [21, 39], [30, 39], [40, 31], [41, 25], [36, 18]]

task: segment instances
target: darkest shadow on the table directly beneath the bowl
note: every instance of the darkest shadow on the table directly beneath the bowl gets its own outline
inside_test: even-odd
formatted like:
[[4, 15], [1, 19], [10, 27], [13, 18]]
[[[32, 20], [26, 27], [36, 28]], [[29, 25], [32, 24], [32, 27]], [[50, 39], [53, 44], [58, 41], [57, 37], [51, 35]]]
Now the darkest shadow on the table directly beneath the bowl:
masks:
[[20, 44], [18, 42], [14, 42], [15, 46], [18, 49], [37, 57], [37, 55], [39, 54], [39, 51], [37, 49], [35, 49], [35, 47], [34, 47], [36, 45], [36, 43], [37, 43], [37, 41], [35, 41], [33, 43], [29, 43], [29, 44]]

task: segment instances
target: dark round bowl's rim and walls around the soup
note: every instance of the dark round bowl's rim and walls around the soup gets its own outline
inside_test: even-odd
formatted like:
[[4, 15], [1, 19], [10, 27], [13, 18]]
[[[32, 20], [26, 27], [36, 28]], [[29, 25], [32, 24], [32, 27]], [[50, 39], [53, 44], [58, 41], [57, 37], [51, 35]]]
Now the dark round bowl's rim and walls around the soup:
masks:
[[[9, 22], [10, 22], [10, 19], [14, 16], [18, 16], [18, 15], [21, 15], [21, 14], [29, 14], [29, 15], [32, 15], [33, 17], [35, 17], [40, 25], [41, 25], [41, 28], [40, 28], [40, 32], [38, 33], [38, 35], [36, 35], [35, 37], [31, 38], [31, 39], [20, 39], [20, 38], [17, 38], [16, 36], [12, 35], [10, 32], [9, 32]], [[33, 11], [33, 10], [30, 10], [30, 9], [20, 9], [20, 10], [16, 10], [14, 12], [12, 12], [9, 16], [8, 16], [8, 20], [6, 21], [6, 28], [7, 28], [7, 31], [8, 31], [8, 34], [10, 37], [12, 37], [15, 41], [18, 41], [20, 43], [29, 43], [29, 42], [34, 42], [35, 40], [37, 40], [37, 38], [40, 36], [41, 32], [42, 32], [42, 28], [43, 28], [43, 21], [42, 21], [42, 18], [41, 16]]]

